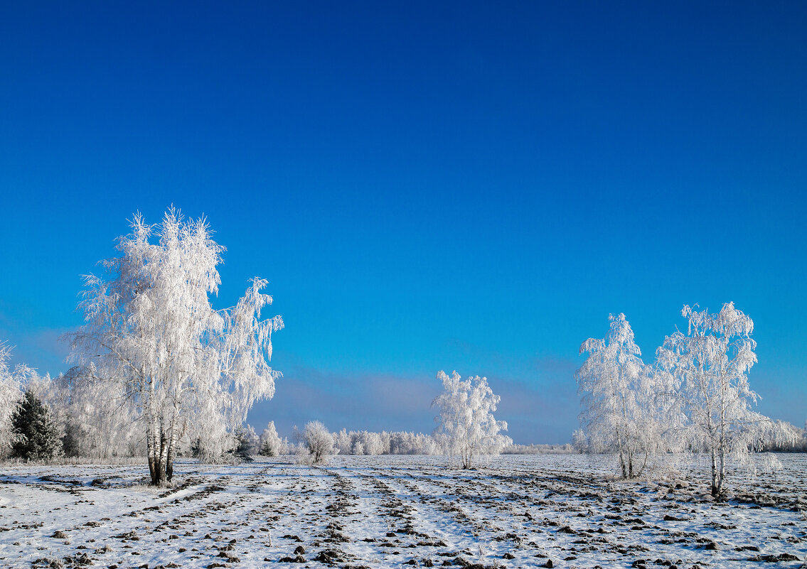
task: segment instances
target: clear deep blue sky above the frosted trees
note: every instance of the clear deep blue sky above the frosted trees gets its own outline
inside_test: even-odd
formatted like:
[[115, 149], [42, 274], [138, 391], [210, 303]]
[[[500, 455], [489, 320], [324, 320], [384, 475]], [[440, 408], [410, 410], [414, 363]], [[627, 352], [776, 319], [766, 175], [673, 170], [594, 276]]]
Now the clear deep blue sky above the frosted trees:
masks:
[[173, 203], [228, 247], [215, 304], [263, 276], [286, 321], [257, 427], [429, 432], [457, 369], [566, 442], [609, 313], [650, 361], [725, 301], [759, 410], [807, 419], [804, 2], [170, 4], [2, 8], [17, 359], [65, 369], [79, 275]]

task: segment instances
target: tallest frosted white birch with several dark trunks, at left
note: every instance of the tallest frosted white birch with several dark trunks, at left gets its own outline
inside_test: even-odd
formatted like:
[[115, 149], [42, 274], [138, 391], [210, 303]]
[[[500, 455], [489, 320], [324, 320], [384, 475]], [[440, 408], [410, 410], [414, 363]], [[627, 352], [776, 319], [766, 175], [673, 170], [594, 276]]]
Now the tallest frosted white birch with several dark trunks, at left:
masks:
[[164, 485], [183, 434], [221, 445], [254, 401], [274, 395], [271, 334], [282, 319], [261, 319], [272, 298], [257, 278], [234, 307], [213, 309], [224, 247], [205, 219], [171, 208], [157, 226], [136, 214], [131, 230], [106, 274], [86, 277], [86, 324], [69, 339], [82, 377], [119, 384], [135, 405], [152, 484]]

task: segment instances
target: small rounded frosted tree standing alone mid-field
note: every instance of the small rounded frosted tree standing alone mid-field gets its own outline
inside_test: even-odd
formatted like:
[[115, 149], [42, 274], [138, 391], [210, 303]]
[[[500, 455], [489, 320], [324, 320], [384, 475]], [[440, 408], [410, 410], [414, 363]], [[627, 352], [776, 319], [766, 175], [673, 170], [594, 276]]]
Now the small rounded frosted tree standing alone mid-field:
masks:
[[470, 468], [480, 456], [499, 455], [512, 439], [500, 431], [507, 423], [496, 421], [493, 412], [501, 397], [487, 384], [487, 377], [469, 377], [463, 381], [457, 372], [448, 376], [437, 372], [443, 392], [432, 401], [440, 409], [435, 417], [434, 437], [448, 455], [458, 455], [463, 468]]

